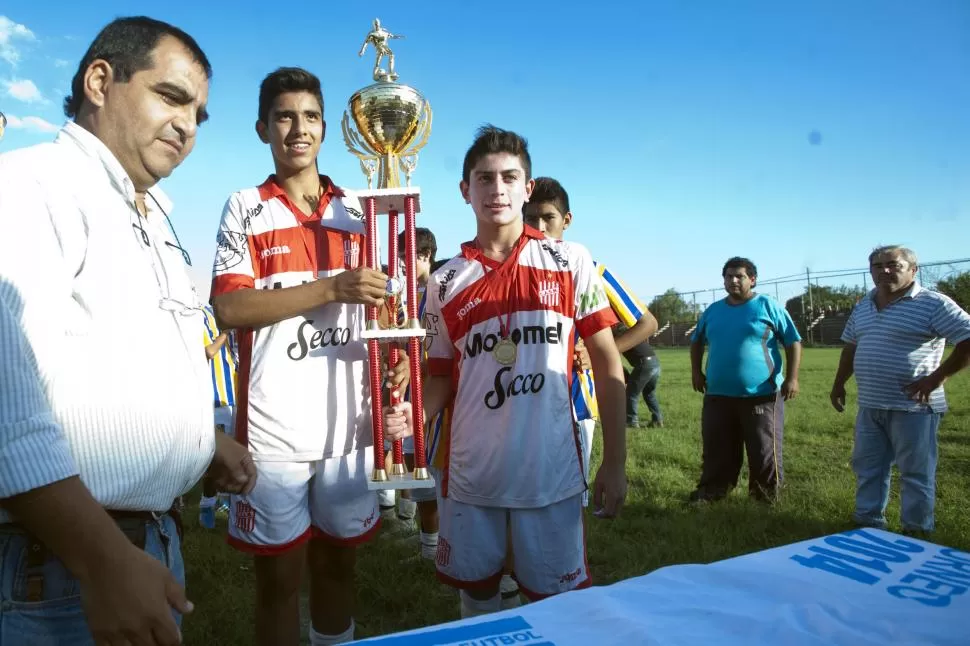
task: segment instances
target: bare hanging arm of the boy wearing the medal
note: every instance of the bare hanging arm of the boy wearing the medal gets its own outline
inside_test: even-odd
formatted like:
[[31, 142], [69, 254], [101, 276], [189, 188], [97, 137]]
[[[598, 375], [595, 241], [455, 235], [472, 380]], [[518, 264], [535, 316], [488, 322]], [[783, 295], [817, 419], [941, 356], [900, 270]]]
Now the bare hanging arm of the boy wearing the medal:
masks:
[[585, 343], [596, 375], [596, 402], [603, 425], [603, 463], [593, 485], [593, 504], [602, 510], [601, 515], [612, 517], [620, 512], [627, 488], [623, 364], [609, 328], [586, 338]]

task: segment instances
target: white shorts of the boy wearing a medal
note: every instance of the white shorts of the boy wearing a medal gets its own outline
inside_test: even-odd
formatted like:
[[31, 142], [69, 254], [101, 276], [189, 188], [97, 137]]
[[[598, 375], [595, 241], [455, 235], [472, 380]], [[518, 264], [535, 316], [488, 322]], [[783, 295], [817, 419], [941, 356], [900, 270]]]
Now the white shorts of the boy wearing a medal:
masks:
[[438, 500], [438, 578], [461, 589], [498, 586], [511, 529], [513, 576], [536, 601], [592, 585], [581, 494], [537, 509]]

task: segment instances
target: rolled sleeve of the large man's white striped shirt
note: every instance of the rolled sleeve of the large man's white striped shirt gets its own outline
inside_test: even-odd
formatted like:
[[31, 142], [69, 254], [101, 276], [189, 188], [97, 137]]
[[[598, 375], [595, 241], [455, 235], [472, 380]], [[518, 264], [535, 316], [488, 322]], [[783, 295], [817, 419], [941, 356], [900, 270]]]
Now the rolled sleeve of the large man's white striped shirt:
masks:
[[78, 475], [8, 293], [0, 290], [0, 499]]

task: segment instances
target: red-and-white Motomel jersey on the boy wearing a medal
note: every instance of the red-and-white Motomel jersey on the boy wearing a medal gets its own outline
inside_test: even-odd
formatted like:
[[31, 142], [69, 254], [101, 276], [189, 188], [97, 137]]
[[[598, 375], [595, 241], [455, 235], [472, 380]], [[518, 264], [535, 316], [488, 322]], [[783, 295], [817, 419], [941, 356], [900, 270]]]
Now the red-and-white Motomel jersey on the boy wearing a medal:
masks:
[[[465, 243], [431, 277], [426, 298], [429, 373], [454, 380], [451, 435], [439, 449], [443, 494], [529, 508], [583, 491], [573, 338], [616, 322], [586, 248], [528, 226], [501, 264]], [[503, 328], [514, 365], [493, 355]]]

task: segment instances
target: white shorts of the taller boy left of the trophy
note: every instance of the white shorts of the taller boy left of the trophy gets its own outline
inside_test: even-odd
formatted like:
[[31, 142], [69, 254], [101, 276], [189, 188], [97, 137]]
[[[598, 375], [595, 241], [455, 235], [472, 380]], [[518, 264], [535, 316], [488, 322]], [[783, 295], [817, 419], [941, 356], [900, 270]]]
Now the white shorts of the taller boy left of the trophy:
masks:
[[316, 462], [257, 462], [256, 488], [231, 497], [229, 544], [273, 555], [310, 538], [367, 541], [380, 526], [377, 494], [367, 488], [373, 465], [370, 448]]

